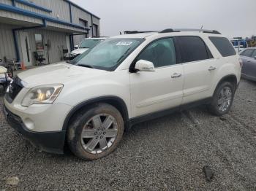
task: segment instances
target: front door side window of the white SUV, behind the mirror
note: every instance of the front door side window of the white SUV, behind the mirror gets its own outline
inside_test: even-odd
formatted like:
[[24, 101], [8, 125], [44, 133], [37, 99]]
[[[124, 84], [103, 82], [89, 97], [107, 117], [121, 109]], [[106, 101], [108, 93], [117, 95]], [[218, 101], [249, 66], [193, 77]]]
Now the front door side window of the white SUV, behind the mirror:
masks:
[[146, 47], [138, 56], [138, 61], [154, 63], [156, 68], [176, 64], [176, 51], [173, 38], [160, 39]]

